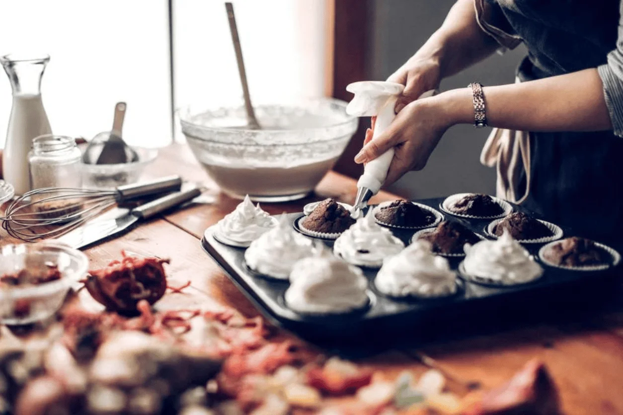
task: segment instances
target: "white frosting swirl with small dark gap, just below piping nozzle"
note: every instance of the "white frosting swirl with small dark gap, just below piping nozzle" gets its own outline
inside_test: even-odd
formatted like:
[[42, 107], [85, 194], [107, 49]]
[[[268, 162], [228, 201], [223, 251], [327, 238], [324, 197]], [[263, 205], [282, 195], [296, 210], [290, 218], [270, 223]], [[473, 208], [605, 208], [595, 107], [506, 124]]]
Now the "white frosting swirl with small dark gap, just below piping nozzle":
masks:
[[374, 221], [372, 209], [335, 241], [333, 252], [353, 265], [378, 268], [383, 258], [402, 251], [404, 243]]

